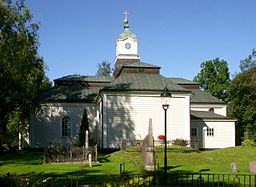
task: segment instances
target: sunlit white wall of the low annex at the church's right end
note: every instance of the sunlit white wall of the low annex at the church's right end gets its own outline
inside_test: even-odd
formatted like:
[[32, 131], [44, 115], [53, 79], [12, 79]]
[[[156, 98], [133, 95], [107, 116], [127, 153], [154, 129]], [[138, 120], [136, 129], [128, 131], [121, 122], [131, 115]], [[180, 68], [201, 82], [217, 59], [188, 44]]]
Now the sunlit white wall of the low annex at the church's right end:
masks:
[[[191, 128], [197, 129], [199, 147], [205, 149], [225, 148], [235, 146], [234, 121], [202, 121], [192, 120]], [[207, 135], [207, 128], [213, 129], [213, 134]]]

